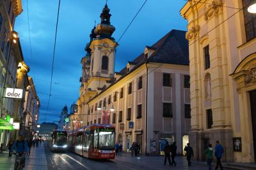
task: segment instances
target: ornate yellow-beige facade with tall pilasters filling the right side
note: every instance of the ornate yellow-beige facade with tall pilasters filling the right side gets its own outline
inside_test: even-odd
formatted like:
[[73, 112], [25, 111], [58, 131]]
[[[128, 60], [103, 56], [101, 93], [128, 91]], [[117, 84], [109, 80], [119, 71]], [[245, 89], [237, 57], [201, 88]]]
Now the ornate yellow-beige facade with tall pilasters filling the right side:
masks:
[[[197, 1], [197, 2], [196, 2]], [[256, 14], [246, 0], [188, 1], [191, 132], [195, 158], [220, 141], [228, 162], [256, 159]]]

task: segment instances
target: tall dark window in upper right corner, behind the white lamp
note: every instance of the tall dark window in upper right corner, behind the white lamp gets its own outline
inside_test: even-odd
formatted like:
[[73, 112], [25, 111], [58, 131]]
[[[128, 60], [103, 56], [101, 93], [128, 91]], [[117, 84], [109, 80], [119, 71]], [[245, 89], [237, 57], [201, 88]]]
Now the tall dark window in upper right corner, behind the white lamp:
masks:
[[250, 3], [252, 3], [252, 0], [243, 0], [246, 41], [250, 41], [256, 37], [256, 15], [247, 11]]

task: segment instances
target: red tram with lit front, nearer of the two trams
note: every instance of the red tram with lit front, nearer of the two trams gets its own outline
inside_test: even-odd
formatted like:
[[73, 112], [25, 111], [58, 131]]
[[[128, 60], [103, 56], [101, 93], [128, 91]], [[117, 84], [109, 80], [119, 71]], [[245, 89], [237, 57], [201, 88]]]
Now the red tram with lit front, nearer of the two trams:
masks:
[[93, 124], [68, 132], [68, 148], [86, 158], [115, 158], [115, 127]]

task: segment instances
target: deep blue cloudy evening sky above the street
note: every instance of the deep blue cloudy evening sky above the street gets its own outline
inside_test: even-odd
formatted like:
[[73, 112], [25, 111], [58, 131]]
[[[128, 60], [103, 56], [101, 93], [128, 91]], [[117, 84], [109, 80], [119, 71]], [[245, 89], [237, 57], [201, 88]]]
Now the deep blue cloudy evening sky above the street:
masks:
[[[30, 67], [36, 91], [40, 98], [39, 121], [58, 120], [61, 109], [68, 109], [79, 97], [81, 58], [94, 20], [100, 22], [105, 0], [61, 0], [56, 55], [54, 61], [52, 96], [47, 110], [51, 81], [51, 65], [58, 0], [22, 1], [23, 12], [16, 18], [14, 30], [19, 33], [25, 62]], [[118, 40], [144, 0], [109, 0], [111, 24], [116, 27], [113, 37]], [[145, 45], [152, 45], [171, 29], [186, 30], [186, 20], [180, 17], [180, 9], [186, 1], [148, 0], [131, 27], [119, 42], [116, 50], [115, 70], [132, 61]], [[29, 47], [28, 17], [31, 34]]]

